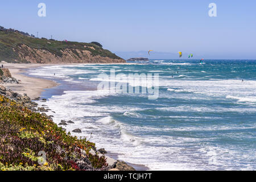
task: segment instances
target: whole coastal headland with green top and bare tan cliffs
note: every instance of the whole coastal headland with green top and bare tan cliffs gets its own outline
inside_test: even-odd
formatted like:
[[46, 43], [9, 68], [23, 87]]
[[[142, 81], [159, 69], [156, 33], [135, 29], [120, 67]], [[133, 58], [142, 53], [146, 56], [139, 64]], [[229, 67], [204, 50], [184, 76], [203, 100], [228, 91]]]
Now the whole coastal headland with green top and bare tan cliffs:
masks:
[[125, 63], [93, 43], [39, 39], [0, 28], [0, 61], [8, 63]]

